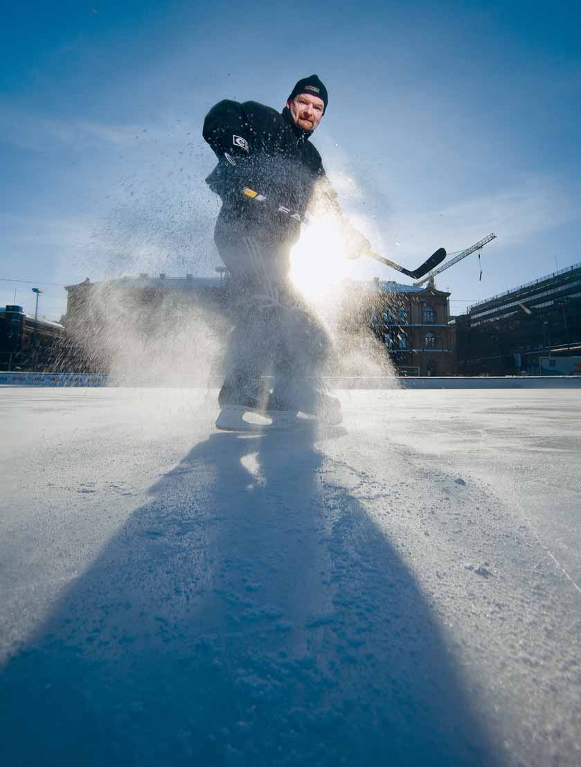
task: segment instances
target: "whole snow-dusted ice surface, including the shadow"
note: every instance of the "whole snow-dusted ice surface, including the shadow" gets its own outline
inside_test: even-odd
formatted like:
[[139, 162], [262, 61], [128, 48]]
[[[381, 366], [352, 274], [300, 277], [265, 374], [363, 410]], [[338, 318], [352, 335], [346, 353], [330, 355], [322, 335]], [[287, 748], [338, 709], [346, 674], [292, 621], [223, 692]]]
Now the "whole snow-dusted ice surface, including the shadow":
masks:
[[579, 390], [0, 390], [7, 765], [579, 765]]

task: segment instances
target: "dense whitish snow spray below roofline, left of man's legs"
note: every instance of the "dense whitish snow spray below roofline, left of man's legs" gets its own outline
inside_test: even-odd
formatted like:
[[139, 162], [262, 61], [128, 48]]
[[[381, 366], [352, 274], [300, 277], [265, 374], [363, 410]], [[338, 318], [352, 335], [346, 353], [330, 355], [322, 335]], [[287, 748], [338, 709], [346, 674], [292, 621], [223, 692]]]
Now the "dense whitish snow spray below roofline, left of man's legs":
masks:
[[74, 367], [109, 373], [117, 385], [207, 386], [223, 320], [189, 281], [174, 289], [146, 277], [81, 284], [67, 323]]

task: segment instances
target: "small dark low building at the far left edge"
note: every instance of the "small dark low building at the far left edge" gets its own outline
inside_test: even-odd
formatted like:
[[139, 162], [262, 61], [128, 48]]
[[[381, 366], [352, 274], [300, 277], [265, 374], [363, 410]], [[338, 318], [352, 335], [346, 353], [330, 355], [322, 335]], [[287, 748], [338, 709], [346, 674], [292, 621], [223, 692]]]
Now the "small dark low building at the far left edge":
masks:
[[54, 368], [63, 339], [60, 322], [30, 317], [15, 304], [0, 307], [0, 370]]

